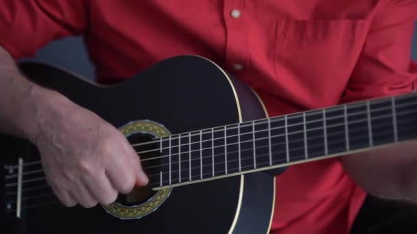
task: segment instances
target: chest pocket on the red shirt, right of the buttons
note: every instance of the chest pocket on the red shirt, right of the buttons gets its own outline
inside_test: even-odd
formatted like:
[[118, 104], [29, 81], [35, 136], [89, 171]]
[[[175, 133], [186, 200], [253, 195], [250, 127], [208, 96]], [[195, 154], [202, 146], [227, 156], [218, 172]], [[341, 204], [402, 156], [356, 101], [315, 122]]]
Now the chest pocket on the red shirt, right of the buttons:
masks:
[[274, 45], [277, 81], [306, 92], [317, 88], [320, 92], [323, 88], [342, 92], [364, 46], [369, 25], [367, 20], [278, 20]]

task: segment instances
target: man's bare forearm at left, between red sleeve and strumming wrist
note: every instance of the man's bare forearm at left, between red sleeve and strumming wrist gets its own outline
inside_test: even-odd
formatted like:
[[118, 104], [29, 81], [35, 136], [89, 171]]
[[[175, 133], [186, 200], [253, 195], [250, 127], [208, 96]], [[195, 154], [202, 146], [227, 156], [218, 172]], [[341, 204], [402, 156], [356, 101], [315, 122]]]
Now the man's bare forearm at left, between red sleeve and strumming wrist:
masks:
[[0, 47], [0, 131], [33, 141], [39, 106], [49, 96], [58, 95], [23, 77], [10, 54]]

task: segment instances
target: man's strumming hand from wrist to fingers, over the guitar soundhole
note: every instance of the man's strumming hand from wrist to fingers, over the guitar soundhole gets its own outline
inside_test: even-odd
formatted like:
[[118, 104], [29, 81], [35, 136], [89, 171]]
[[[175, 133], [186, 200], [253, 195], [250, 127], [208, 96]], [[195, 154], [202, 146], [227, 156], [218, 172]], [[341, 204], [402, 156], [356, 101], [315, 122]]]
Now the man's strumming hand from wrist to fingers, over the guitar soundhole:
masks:
[[41, 96], [36, 105], [36, 134], [47, 181], [71, 207], [110, 204], [118, 192], [147, 184], [139, 155], [115, 127], [64, 96]]

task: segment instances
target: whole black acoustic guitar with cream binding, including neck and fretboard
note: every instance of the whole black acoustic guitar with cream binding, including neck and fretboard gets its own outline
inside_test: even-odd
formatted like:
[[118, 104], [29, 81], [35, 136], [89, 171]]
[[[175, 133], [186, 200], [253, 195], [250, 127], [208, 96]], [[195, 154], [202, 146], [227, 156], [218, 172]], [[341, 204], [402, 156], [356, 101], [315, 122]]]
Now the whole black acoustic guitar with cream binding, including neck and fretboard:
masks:
[[417, 138], [417, 94], [269, 118], [254, 90], [194, 55], [109, 86], [45, 64], [21, 70], [124, 133], [150, 183], [111, 205], [67, 208], [36, 146], [2, 135], [5, 233], [268, 233], [274, 176], [287, 166]]

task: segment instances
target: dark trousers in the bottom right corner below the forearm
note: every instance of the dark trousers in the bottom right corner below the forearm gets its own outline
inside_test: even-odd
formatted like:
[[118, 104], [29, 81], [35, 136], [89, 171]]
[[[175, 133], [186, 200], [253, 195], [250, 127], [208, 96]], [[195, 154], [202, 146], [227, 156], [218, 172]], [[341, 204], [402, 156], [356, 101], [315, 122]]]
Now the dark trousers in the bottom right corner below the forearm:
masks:
[[417, 234], [417, 205], [368, 195], [350, 234]]

